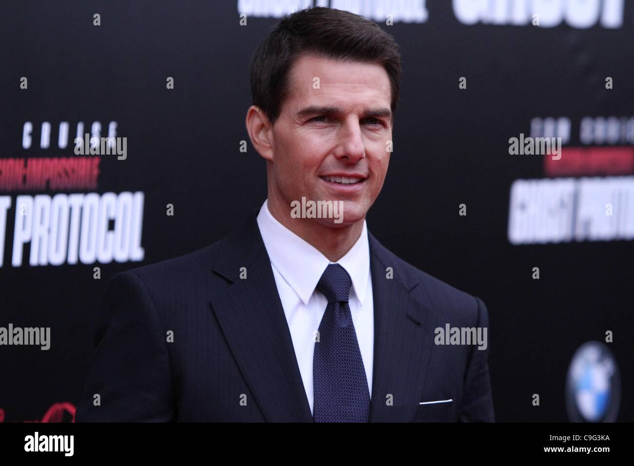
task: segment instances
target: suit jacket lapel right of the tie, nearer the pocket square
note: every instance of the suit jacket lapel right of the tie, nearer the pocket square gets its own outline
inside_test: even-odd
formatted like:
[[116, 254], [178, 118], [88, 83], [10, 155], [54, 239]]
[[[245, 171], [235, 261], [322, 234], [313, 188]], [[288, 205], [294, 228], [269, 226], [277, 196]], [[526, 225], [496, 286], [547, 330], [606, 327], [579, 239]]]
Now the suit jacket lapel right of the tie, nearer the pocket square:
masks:
[[[374, 298], [370, 422], [411, 422], [425, 384], [436, 313], [410, 294], [418, 282], [409, 280], [400, 259], [370, 233], [368, 240]], [[386, 278], [388, 267], [393, 278]]]

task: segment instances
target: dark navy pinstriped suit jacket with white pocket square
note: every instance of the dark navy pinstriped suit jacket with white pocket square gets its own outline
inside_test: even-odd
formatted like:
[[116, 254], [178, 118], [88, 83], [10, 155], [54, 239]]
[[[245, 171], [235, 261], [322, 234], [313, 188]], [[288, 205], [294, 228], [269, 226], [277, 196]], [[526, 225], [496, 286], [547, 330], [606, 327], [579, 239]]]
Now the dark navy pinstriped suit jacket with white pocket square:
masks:
[[[212, 245], [112, 277], [77, 422], [313, 421], [256, 213]], [[484, 303], [368, 236], [370, 422], [493, 421], [488, 349], [434, 343], [447, 323], [488, 327]]]

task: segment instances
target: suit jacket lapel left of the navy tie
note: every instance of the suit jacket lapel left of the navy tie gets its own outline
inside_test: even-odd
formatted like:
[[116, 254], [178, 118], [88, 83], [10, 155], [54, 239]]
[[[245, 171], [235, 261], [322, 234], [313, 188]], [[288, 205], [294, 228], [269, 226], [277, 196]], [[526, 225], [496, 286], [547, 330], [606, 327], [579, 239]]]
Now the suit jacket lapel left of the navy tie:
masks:
[[[242, 267], [246, 279], [240, 278]], [[223, 240], [214, 272], [232, 284], [212, 298], [212, 309], [264, 419], [312, 422], [271, 262], [253, 214]]]

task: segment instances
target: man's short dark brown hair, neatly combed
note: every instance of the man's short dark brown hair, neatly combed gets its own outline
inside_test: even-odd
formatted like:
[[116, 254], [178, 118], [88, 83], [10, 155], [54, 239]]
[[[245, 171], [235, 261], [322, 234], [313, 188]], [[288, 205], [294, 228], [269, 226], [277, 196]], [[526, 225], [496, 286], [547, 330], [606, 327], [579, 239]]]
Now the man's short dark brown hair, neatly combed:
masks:
[[363, 16], [317, 6], [284, 16], [251, 56], [253, 105], [266, 113], [271, 124], [288, 96], [288, 72], [304, 55], [382, 65], [390, 79], [392, 115], [396, 112], [401, 56], [394, 38]]

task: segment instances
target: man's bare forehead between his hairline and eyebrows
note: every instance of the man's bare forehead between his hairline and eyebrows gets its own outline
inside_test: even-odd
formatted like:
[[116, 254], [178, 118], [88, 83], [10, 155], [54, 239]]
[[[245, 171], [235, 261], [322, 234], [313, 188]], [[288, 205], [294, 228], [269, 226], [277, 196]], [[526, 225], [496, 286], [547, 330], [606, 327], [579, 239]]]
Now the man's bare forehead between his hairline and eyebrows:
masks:
[[348, 109], [359, 105], [389, 108], [390, 103], [390, 80], [382, 65], [308, 55], [298, 58], [288, 74], [284, 107], [290, 111], [325, 104]]

